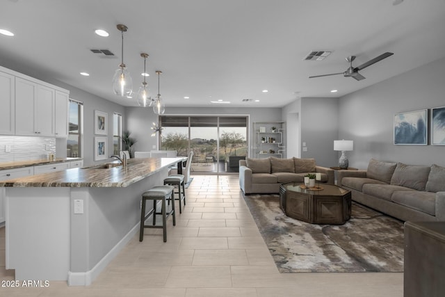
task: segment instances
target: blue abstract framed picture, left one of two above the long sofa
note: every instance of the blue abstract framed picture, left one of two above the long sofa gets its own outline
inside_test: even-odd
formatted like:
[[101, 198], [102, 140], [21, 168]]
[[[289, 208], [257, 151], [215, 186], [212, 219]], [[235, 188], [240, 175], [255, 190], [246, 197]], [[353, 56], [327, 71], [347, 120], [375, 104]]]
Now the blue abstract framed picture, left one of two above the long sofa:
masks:
[[395, 145], [428, 145], [428, 109], [394, 115]]

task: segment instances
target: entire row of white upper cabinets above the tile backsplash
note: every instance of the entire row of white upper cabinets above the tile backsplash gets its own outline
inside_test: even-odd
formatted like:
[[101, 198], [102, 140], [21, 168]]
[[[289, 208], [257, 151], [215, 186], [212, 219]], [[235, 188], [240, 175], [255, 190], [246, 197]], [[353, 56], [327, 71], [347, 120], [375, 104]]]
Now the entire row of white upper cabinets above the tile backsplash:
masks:
[[[0, 70], [5, 69], [0, 67]], [[11, 111], [0, 111], [0, 134], [66, 138], [69, 92], [32, 77], [11, 72], [4, 73], [4, 76], [1, 76], [3, 72], [0, 72], [0, 104], [11, 106]], [[8, 75], [11, 80], [9, 85]], [[11, 89], [9, 92], [6, 86]], [[8, 121], [11, 122], [10, 125], [6, 125]]]

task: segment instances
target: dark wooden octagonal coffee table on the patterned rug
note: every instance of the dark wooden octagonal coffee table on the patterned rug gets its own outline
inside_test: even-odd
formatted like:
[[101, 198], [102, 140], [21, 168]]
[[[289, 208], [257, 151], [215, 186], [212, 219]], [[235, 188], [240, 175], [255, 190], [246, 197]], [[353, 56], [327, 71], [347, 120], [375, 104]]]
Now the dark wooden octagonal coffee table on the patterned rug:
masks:
[[313, 191], [301, 182], [282, 184], [280, 208], [286, 216], [307, 223], [343, 225], [350, 219], [350, 191], [332, 184], [320, 186], [321, 190]]

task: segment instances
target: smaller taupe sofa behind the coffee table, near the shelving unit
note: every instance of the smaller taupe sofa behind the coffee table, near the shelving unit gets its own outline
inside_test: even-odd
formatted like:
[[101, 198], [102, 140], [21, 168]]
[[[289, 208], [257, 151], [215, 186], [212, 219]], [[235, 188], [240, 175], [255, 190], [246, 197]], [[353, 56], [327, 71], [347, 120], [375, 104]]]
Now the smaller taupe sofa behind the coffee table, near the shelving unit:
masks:
[[310, 172], [320, 172], [321, 182], [334, 184], [334, 170], [316, 166], [315, 159], [273, 156], [239, 161], [239, 186], [245, 194], [280, 193], [280, 184], [303, 182]]

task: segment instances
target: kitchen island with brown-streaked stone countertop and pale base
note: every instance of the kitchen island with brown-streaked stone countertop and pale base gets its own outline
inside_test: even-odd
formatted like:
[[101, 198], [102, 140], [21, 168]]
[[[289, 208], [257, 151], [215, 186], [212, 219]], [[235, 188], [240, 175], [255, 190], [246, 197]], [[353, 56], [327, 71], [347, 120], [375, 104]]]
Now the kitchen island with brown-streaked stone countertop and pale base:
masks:
[[91, 284], [138, 232], [142, 193], [185, 160], [130, 159], [126, 168], [72, 168], [0, 182], [6, 269], [15, 269], [16, 280]]

